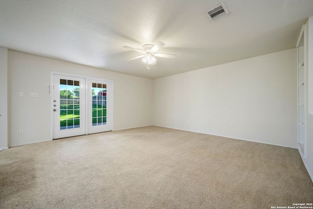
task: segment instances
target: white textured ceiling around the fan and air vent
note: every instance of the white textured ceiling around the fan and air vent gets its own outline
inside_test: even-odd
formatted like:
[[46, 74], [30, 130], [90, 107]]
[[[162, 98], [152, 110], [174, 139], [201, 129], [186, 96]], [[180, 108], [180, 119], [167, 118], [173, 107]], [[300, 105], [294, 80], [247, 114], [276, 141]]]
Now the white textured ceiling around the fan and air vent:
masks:
[[[295, 47], [313, 0], [0, 0], [0, 46], [145, 78], [159, 78]], [[142, 49], [165, 43], [146, 69]]]

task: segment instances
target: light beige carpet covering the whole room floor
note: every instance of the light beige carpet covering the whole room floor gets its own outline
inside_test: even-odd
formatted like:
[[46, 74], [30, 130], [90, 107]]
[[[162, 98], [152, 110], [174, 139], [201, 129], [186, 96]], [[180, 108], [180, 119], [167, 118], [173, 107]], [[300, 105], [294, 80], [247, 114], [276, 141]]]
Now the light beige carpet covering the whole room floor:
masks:
[[312, 203], [296, 149], [148, 126], [0, 152], [1, 209], [270, 209]]

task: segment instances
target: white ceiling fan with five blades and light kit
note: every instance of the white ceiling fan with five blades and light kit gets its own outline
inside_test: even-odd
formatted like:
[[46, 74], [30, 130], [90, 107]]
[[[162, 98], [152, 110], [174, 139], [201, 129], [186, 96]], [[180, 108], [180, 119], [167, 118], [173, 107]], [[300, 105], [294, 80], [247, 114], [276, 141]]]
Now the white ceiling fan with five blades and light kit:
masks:
[[142, 58], [142, 62], [147, 64], [147, 68], [150, 69], [150, 65], [156, 64], [156, 57], [165, 57], [165, 58], [172, 58], [175, 59], [176, 55], [175, 54], [159, 54], [156, 53], [156, 51], [158, 49], [160, 49], [162, 46], [164, 46], [165, 44], [163, 42], [156, 42], [155, 45], [151, 45], [151, 44], [146, 44], [143, 46], [143, 50], [137, 49], [137, 48], [133, 48], [130, 46], [123, 46], [124, 48], [129, 48], [132, 49], [134, 51], [138, 51], [140, 53], [143, 53], [143, 55], [137, 56], [137, 57], [133, 57], [131, 59], [128, 59], [128, 61], [130, 60], [135, 60], [138, 58]]

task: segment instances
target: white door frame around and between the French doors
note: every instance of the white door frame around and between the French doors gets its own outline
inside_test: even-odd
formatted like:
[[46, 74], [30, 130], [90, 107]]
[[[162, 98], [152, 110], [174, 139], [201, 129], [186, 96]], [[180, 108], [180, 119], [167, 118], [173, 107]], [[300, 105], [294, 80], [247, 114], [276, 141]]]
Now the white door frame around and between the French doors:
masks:
[[[94, 78], [94, 77], [89, 77], [89, 76], [83, 76], [83, 75], [76, 75], [76, 74], [70, 74], [70, 73], [64, 73], [64, 72], [58, 72], [58, 71], [50, 71], [50, 88], [49, 88], [49, 93], [50, 93], [50, 140], [53, 140], [53, 75], [65, 75], [65, 76], [72, 76], [72, 77], [80, 77], [80, 78], [85, 78], [86, 84], [89, 82], [89, 79], [92, 80], [99, 80], [99, 81], [105, 81], [105, 82], [111, 82], [111, 108], [108, 110], [110, 111], [111, 115], [111, 123], [112, 123], [112, 131], [114, 130], [113, 127], [113, 81], [108, 80], [108, 79], [101, 79], [101, 78]], [[88, 87], [86, 86], [85, 88], [85, 95], [87, 98], [88, 95]], [[85, 123], [86, 123], [86, 135], [89, 134], [88, 132], [88, 99], [85, 99]]]

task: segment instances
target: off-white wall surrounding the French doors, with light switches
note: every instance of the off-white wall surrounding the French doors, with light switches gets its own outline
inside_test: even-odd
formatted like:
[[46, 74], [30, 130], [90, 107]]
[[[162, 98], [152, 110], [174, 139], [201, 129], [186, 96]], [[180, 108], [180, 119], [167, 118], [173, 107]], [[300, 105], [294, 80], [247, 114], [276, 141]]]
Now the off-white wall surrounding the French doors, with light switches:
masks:
[[50, 139], [50, 71], [113, 80], [114, 130], [152, 124], [152, 80], [9, 51], [9, 146]]

